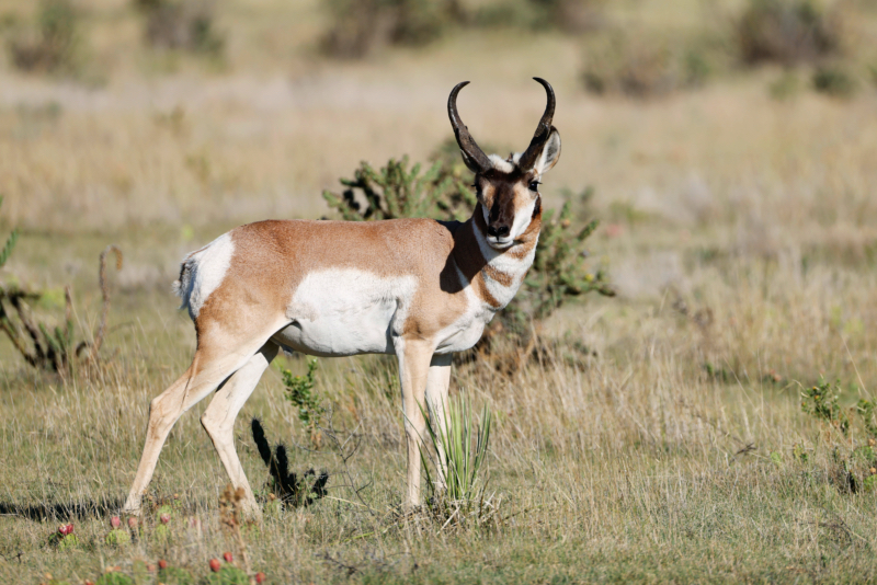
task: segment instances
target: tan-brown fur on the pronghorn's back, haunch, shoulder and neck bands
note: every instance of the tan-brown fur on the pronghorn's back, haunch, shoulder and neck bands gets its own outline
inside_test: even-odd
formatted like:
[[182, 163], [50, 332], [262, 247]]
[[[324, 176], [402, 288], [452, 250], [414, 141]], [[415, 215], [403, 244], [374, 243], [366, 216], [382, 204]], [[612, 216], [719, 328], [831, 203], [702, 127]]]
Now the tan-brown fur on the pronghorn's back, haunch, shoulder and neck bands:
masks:
[[[522, 242], [505, 253], [525, 256], [538, 234], [533, 219]], [[358, 268], [381, 277], [414, 276], [423, 283], [409, 309], [402, 334], [431, 339], [466, 311], [464, 283], [479, 298], [499, 308], [483, 280], [487, 274], [503, 286], [511, 275], [487, 266], [474, 230], [485, 233], [480, 209], [466, 222], [432, 219], [387, 221], [269, 220], [231, 231], [235, 254], [221, 285], [204, 302], [195, 328], [206, 334], [248, 336], [251, 329], [282, 320], [296, 287], [317, 269]], [[437, 285], [437, 286], [434, 286]]]

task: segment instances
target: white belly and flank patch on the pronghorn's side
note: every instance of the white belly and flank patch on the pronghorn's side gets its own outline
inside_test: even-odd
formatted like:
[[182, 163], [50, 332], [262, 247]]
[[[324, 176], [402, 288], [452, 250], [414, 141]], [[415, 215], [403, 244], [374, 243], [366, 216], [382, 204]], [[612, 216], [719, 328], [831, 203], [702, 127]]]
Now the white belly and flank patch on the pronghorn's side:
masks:
[[392, 331], [405, 321], [413, 276], [380, 278], [354, 268], [309, 274], [296, 289], [286, 316], [292, 323], [276, 343], [324, 357], [392, 354]]

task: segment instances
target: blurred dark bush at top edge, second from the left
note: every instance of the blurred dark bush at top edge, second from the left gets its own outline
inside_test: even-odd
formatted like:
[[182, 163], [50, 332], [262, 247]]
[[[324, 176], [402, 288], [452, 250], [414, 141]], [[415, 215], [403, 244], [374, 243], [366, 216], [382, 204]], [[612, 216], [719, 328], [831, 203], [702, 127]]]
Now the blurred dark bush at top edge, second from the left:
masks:
[[221, 57], [226, 39], [216, 31], [212, 0], [134, 0], [146, 19], [146, 42], [158, 48]]

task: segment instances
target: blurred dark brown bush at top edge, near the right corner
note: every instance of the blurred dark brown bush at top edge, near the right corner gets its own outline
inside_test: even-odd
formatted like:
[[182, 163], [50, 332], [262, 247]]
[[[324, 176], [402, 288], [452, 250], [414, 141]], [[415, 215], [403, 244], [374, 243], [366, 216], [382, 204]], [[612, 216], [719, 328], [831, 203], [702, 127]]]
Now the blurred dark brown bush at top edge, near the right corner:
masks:
[[812, 62], [841, 51], [843, 19], [838, 4], [812, 0], [749, 0], [737, 22], [743, 62]]

